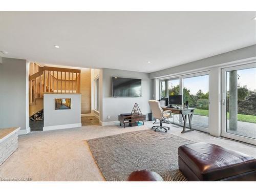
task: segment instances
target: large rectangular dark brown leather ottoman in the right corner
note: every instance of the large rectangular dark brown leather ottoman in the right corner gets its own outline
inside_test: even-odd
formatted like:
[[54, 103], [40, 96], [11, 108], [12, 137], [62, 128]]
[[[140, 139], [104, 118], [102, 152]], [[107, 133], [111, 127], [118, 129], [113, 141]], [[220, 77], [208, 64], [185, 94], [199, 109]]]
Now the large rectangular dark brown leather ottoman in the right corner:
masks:
[[188, 181], [256, 181], [256, 159], [210, 143], [178, 148], [179, 168]]

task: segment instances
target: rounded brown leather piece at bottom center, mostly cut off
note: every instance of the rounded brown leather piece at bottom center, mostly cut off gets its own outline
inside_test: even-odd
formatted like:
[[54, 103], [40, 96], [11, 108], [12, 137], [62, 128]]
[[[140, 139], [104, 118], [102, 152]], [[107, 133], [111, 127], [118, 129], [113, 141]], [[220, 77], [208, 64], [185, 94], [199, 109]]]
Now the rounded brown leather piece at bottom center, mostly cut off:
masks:
[[127, 178], [127, 181], [163, 181], [162, 177], [150, 170], [136, 170]]

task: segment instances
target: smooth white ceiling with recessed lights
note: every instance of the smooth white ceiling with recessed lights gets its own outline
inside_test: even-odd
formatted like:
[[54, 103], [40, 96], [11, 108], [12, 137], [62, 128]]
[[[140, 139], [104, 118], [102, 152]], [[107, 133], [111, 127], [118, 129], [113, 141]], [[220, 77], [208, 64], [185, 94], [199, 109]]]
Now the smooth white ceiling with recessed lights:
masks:
[[9, 52], [0, 56], [154, 72], [256, 44], [254, 16], [255, 11], [0, 11], [0, 50]]

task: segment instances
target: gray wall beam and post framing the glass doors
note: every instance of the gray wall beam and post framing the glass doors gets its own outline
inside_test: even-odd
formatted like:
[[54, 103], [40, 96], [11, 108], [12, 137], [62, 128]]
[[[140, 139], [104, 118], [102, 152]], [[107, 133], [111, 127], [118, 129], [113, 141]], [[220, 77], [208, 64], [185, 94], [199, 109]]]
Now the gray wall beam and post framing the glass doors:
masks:
[[[209, 133], [221, 136], [221, 68], [245, 64], [254, 58], [256, 58], [256, 45], [157, 71], [151, 73], [150, 77], [179, 77], [184, 74], [209, 71]], [[156, 80], [155, 83], [159, 81]], [[156, 86], [156, 92], [160, 92], [159, 86]]]

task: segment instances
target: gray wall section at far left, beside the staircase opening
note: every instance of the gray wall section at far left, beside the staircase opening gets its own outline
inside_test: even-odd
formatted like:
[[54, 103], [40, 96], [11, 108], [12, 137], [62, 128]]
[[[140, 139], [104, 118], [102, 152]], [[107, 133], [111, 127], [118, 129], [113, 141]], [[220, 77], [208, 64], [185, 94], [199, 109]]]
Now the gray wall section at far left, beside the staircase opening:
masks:
[[29, 121], [27, 97], [27, 63], [24, 59], [3, 57], [0, 65], [0, 128], [20, 127], [27, 133]]

